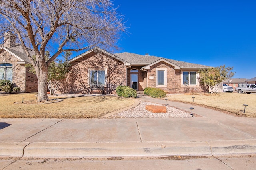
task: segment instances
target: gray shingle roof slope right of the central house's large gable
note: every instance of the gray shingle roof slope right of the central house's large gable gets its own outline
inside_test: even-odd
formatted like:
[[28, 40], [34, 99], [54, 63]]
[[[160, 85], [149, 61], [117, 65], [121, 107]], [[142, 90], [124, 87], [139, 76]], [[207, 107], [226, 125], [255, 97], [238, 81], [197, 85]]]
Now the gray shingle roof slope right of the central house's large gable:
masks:
[[[131, 64], [144, 64], [148, 65], [151, 63], [154, 63], [155, 61], [161, 59], [162, 57], [157, 57], [157, 56], [152, 56], [152, 55], [139, 55], [139, 54], [134, 54], [134, 53], [128, 53], [128, 52], [123, 52], [123, 53], [116, 53], [114, 54], [121, 59], [131, 63]], [[166, 58], [164, 58], [166, 59]], [[210, 66], [205, 66], [201, 64], [194, 64], [194, 63], [188, 63], [184, 61], [178, 61], [178, 60], [173, 60], [173, 59], [166, 59], [167, 61], [170, 61], [171, 63], [176, 64], [177, 66], [180, 66], [181, 68], [209, 68]]]

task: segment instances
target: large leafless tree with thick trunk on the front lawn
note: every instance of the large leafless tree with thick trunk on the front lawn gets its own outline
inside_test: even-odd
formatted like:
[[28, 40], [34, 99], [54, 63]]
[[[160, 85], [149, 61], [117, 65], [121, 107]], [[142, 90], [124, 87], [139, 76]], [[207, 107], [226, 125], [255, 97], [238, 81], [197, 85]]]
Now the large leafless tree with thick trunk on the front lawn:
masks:
[[[123, 16], [110, 0], [0, 1], [0, 33], [13, 31], [20, 40], [36, 70], [38, 102], [48, 100], [47, 68], [62, 52], [114, 47], [125, 31]], [[48, 61], [46, 50], [52, 53]]]

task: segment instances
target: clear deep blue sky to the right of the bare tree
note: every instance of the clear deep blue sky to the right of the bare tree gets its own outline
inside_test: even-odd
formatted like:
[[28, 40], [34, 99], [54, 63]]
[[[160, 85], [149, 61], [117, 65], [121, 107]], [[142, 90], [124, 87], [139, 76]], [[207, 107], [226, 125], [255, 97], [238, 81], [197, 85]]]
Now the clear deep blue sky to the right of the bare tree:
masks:
[[114, 0], [128, 33], [120, 52], [207, 66], [234, 67], [233, 78], [256, 77], [256, 1]]

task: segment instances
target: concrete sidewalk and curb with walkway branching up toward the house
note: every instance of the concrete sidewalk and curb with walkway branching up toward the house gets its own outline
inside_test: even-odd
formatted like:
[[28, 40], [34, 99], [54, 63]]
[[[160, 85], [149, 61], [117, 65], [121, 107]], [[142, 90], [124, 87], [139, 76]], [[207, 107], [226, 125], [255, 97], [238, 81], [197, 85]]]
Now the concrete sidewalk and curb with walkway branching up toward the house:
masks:
[[[138, 95], [139, 100], [165, 100]], [[256, 118], [167, 101], [196, 118], [0, 119], [0, 156], [256, 154]]]

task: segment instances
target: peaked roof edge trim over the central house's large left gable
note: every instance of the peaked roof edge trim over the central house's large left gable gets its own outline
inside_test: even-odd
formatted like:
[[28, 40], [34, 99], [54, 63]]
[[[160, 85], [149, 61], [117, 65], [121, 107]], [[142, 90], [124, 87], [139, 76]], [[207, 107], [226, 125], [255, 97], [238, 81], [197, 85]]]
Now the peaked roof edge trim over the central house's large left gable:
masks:
[[120, 57], [118, 57], [116, 55], [113, 55], [112, 53], [109, 53], [106, 50], [100, 49], [99, 47], [94, 47], [93, 49], [90, 49], [89, 51], [86, 51], [86, 52], [84, 52], [84, 53], [82, 53], [82, 54], [80, 54], [80, 55], [70, 59], [69, 63], [71, 63], [73, 61], [76, 61], [76, 60], [80, 59], [81, 57], [83, 57], [85, 55], [88, 55], [90, 53], [104, 53], [105, 55], [108, 55], [108, 56], [110, 56], [110, 57], [112, 57], [114, 59], [117, 59], [117, 60], [121, 61], [122, 63], [124, 63], [125, 66], [130, 66], [131, 65], [131, 63], [123, 60], [122, 58], [120, 58]]

